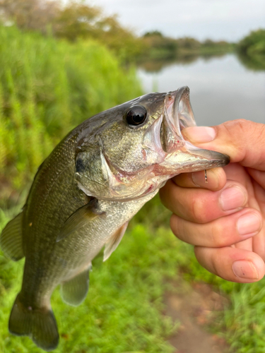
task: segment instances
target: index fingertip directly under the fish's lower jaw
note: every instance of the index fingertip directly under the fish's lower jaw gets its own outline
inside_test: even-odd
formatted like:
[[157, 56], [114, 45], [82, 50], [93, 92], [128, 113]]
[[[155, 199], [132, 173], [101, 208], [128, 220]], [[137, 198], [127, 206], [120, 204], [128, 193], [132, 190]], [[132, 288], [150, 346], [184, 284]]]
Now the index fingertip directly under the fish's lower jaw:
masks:
[[182, 188], [203, 188], [212, 191], [223, 189], [225, 186], [226, 176], [223, 168], [208, 169], [206, 176], [202, 170], [201, 172], [178, 174], [172, 178], [172, 181]]

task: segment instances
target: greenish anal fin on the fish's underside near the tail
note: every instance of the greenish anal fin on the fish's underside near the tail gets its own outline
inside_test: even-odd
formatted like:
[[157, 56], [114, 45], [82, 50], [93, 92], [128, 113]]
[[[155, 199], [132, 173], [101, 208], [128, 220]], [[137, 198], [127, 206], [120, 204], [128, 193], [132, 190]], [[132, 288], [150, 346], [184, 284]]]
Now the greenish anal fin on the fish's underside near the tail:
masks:
[[91, 268], [92, 266], [90, 265], [87, 270], [61, 284], [61, 298], [66, 304], [78, 306], [86, 298], [89, 287], [89, 271]]

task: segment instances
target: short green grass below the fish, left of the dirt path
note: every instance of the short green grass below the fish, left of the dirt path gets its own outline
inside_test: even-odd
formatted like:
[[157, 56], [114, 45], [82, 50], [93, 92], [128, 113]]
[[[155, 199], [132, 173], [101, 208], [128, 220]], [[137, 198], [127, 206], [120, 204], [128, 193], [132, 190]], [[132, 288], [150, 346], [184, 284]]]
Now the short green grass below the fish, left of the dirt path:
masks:
[[[9, 213], [8, 216], [11, 214]], [[0, 227], [6, 223], [1, 213]], [[176, 326], [163, 316], [165, 278], [176, 278], [176, 261], [182, 262], [175, 237], [160, 227], [150, 232], [133, 225], [110, 259], [93, 262], [86, 301], [73, 308], [54, 292], [52, 307], [61, 334], [54, 352], [172, 352], [166, 338]], [[18, 293], [23, 261], [1, 261], [0, 351], [42, 352], [28, 337], [8, 333], [8, 316]]]

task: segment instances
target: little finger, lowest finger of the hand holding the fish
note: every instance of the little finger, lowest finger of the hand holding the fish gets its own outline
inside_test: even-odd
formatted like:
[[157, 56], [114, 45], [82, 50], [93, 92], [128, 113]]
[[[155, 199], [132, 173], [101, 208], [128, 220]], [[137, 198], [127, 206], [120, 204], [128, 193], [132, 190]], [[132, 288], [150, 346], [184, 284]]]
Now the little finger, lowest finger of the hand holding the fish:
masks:
[[209, 272], [224, 280], [240, 283], [257, 282], [264, 277], [264, 261], [252, 251], [224, 248], [206, 248], [196, 246], [195, 256]]

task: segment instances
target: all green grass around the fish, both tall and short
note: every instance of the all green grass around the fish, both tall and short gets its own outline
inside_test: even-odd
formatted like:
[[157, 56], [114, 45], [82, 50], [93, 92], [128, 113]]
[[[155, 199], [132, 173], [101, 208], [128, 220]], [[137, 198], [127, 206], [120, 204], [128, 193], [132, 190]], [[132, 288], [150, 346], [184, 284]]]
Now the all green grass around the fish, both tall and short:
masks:
[[[134, 70], [122, 68], [98, 43], [69, 44], [0, 26], [1, 193], [6, 184], [24, 189], [73, 126], [138, 95]], [[0, 231], [23, 201], [25, 195], [15, 208], [1, 201]], [[90, 291], [81, 306], [67, 306], [59, 290], [54, 292], [52, 306], [61, 334], [54, 352], [172, 352], [167, 337], [177, 323], [163, 316], [163, 294], [173, 280], [179, 285], [208, 282], [227, 294], [231, 305], [211, 329], [238, 353], [264, 352], [264, 281], [239, 285], [208, 273], [196, 262], [192, 246], [172, 236], [169, 215], [158, 198], [145, 205], [110, 259], [95, 259]], [[1, 353], [42, 352], [28, 337], [8, 333], [22, 272], [23, 261], [13, 263], [0, 253]]]

